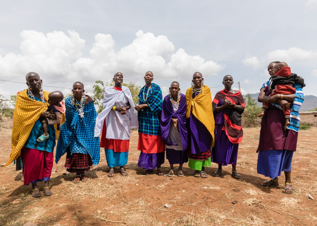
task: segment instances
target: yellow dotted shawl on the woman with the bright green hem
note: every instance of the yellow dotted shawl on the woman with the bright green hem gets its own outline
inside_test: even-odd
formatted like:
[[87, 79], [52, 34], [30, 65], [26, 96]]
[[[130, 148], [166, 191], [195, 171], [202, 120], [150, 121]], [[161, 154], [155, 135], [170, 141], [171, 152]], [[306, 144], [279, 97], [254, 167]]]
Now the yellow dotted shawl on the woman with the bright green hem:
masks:
[[212, 112], [212, 99], [210, 88], [206, 85], [203, 91], [193, 98], [193, 90], [191, 88], [186, 90], [186, 119], [192, 114], [203, 123], [212, 137], [211, 147], [215, 144], [215, 119]]

